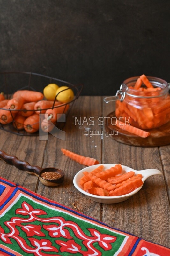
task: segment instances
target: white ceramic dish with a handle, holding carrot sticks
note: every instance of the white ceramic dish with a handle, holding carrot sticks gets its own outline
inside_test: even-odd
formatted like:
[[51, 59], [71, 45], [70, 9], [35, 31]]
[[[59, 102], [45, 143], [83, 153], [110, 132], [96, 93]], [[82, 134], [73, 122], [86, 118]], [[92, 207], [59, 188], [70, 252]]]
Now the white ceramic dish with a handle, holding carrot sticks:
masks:
[[[130, 192], [129, 194], [126, 195], [122, 195], [122, 196], [96, 196], [96, 195], [92, 195], [86, 191], [83, 190], [83, 187], [81, 185], [79, 185], [79, 180], [81, 179], [81, 177], [84, 175], [83, 172], [91, 172], [92, 170], [94, 170], [95, 168], [97, 168], [98, 166], [100, 166], [101, 164], [97, 164], [97, 165], [92, 165], [92, 166], [88, 166], [82, 170], [80, 170], [73, 179], [73, 183], [75, 188], [77, 188], [81, 193], [83, 193], [84, 195], [86, 195], [89, 199], [98, 202], [98, 203], [102, 203], [102, 204], [114, 204], [114, 203], [119, 203], [122, 201], [127, 200], [130, 196], [133, 196], [134, 194], [136, 194], [141, 188], [142, 186], [140, 186], [139, 188], [136, 188], [135, 190], [133, 190], [132, 192]], [[115, 166], [116, 164], [102, 164], [104, 165], [104, 170], [109, 169], [113, 166]], [[146, 169], [146, 170], [133, 170], [132, 168], [128, 167], [128, 166], [124, 166], [122, 165], [123, 168], [123, 173], [126, 172], [130, 172], [133, 171], [135, 172], [135, 174], [142, 174], [142, 181], [144, 182], [148, 177], [152, 176], [152, 175], [160, 175], [162, 174], [162, 172], [160, 172], [157, 169]]]

